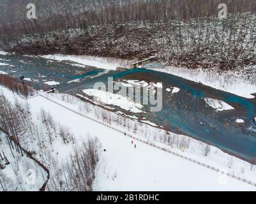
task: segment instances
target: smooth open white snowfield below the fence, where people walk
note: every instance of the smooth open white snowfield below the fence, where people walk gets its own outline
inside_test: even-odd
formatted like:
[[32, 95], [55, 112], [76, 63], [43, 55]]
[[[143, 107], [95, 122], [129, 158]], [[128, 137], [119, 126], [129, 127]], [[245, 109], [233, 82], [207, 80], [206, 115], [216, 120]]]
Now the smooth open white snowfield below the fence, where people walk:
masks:
[[[227, 178], [144, 143], [135, 142], [112, 129], [79, 117], [41, 97], [29, 101], [34, 112], [43, 107], [75, 135], [90, 132], [102, 142], [103, 158], [94, 183], [96, 191], [202, 190], [256, 191], [256, 187]], [[224, 177], [224, 178], [223, 178]]]

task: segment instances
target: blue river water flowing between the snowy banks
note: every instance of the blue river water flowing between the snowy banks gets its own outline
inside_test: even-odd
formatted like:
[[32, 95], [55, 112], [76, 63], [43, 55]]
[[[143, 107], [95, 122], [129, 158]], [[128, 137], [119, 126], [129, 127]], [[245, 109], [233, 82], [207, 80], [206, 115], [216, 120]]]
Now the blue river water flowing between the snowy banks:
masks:
[[[79, 68], [64, 62], [49, 62], [46, 59], [24, 56], [8, 56], [10, 61], [1, 61], [6, 56], [0, 55], [0, 62], [10, 66], [0, 66], [0, 71], [19, 78], [25, 75], [33, 78], [31, 85], [41, 87], [44, 82], [55, 80], [61, 82], [57, 89], [62, 92], [77, 92], [79, 89], [93, 88], [95, 82], [107, 82], [108, 77], [114, 80], [137, 79], [147, 82], [163, 83], [163, 108], [160, 112], [147, 112], [149, 106], [144, 106], [146, 113], [129, 113], [160, 126], [170, 126], [171, 131], [191, 136], [197, 140], [214, 145], [241, 159], [251, 161], [256, 156], [256, 100], [242, 98], [229, 92], [223, 92], [206, 87], [195, 82], [184, 80], [167, 73], [149, 69], [130, 69], [124, 72], [109, 71], [103, 74], [103, 69]], [[89, 76], [99, 75], [90, 78]], [[45, 75], [45, 76], [43, 76]], [[43, 77], [42, 77], [43, 76]], [[70, 80], [80, 79], [80, 83], [68, 84]], [[181, 89], [170, 96], [165, 89], [177, 87]], [[214, 98], [225, 101], [235, 110], [216, 112], [207, 105], [204, 98]], [[118, 109], [116, 109], [118, 110]], [[124, 112], [124, 110], [122, 110]], [[244, 124], [236, 124], [236, 119], [245, 120]], [[202, 126], [201, 123], [206, 124]], [[214, 128], [213, 128], [214, 127]]]

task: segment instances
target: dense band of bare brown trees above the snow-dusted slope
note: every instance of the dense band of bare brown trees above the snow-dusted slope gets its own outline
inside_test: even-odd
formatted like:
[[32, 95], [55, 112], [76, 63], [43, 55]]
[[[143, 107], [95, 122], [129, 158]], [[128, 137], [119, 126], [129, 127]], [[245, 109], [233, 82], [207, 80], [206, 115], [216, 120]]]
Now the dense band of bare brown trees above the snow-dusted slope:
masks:
[[114, 22], [169, 22], [218, 15], [218, 4], [226, 3], [229, 13], [255, 12], [254, 0], [35, 0], [37, 19], [27, 19], [30, 1], [1, 1], [1, 40], [20, 34], [57, 29], [85, 28]]

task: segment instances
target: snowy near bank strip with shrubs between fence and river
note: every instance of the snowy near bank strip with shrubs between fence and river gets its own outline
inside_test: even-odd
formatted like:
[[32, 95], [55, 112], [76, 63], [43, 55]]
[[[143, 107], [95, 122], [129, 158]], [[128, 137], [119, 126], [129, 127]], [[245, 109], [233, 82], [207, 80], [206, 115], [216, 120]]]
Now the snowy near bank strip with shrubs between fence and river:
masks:
[[[61, 103], [68, 108], [75, 108], [77, 112], [84, 113], [92, 118], [102, 119], [104, 116], [105, 119], [102, 119], [103, 121], [108, 122], [114, 127], [122, 129], [126, 133], [136, 135], [148, 142], [156, 143], [162, 147], [169, 148], [174, 152], [191, 157], [202, 163], [215, 166], [229, 172], [230, 174], [235, 173], [236, 175], [239, 175], [239, 177], [245, 179], [249, 178], [256, 182], [256, 166], [252, 168], [250, 163], [230, 156], [216, 147], [211, 147], [209, 155], [206, 157], [204, 156], [204, 149], [206, 147], [205, 143], [194, 140], [188, 136], [169, 133], [170, 138], [172, 138], [171, 140], [175, 141], [174, 143], [170, 144], [166, 139], [166, 131], [164, 129], [154, 128], [156, 127], [156, 124], [153, 124], [152, 122], [142, 120], [142, 122], [151, 125], [148, 126], [146, 124], [142, 124], [141, 122], [137, 122], [137, 117], [128, 117], [121, 112], [109, 112], [89, 103], [84, 103], [83, 101], [80, 101], [80, 99], [67, 94], [47, 94], [47, 96], [54, 99], [54, 101], [57, 101], [57, 103]], [[120, 117], [119, 115], [125, 115], [130, 119]], [[232, 168], [229, 168], [230, 163], [232, 163]], [[251, 170], [251, 168], [253, 170]]]

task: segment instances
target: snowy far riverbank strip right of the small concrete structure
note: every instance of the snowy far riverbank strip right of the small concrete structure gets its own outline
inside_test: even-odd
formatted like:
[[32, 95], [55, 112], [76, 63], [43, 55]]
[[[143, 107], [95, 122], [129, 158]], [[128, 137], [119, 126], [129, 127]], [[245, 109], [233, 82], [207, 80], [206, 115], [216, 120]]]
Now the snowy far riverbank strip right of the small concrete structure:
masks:
[[244, 98], [254, 98], [252, 94], [256, 93], [256, 84], [233, 76], [231, 73], [216, 73], [204, 69], [187, 69], [178, 67], [150, 68], [155, 71], [162, 71], [182, 77], [193, 82], [199, 82], [209, 87], [219, 89], [221, 91], [230, 92]]

